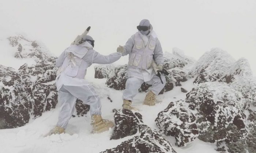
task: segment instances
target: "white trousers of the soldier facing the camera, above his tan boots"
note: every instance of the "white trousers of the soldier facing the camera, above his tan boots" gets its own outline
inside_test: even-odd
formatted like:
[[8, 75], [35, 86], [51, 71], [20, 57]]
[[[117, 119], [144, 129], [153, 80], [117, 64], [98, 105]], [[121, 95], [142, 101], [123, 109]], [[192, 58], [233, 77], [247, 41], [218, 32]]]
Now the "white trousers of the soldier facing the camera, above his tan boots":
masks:
[[[164, 74], [161, 74], [161, 79], [163, 81], [163, 84], [161, 83], [161, 80], [157, 75], [154, 75], [150, 81], [146, 82], [148, 85], [152, 85], [149, 90], [151, 90], [155, 95], [158, 95], [165, 86], [166, 80]], [[143, 82], [143, 79], [129, 77], [125, 83], [123, 99], [133, 101], [133, 98], [136, 96], [136, 94], [139, 93], [139, 88]]]

